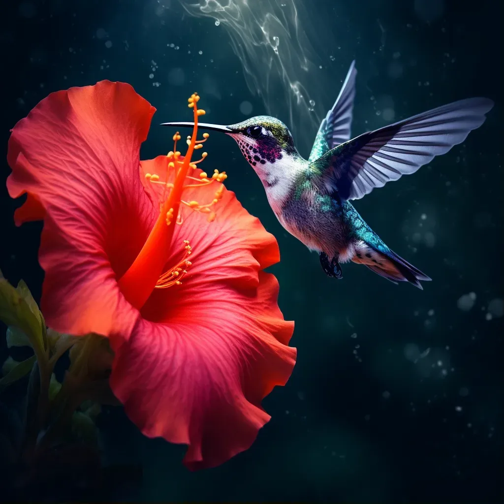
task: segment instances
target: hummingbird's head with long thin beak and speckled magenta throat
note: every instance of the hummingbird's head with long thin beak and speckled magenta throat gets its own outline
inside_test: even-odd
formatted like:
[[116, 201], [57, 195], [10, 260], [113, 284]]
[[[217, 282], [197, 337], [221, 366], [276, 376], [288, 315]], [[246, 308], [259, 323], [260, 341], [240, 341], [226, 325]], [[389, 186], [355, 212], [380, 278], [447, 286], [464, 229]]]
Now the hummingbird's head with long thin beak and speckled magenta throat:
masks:
[[[194, 123], [165, 122], [162, 125], [192, 128]], [[268, 115], [259, 115], [229, 126], [198, 122], [198, 128], [220, 131], [232, 137], [243, 157], [259, 175], [269, 199], [281, 200], [287, 195], [293, 183], [294, 172], [302, 164], [296, 161], [304, 160], [282, 121]]]

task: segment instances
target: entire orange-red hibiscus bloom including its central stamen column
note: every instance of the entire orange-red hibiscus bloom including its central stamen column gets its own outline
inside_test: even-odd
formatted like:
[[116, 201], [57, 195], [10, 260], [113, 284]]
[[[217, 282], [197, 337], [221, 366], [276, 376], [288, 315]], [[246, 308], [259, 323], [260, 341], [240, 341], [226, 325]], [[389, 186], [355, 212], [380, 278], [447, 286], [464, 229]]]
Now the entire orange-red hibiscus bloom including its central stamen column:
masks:
[[130, 418], [187, 444], [187, 467], [212, 467], [269, 420], [260, 403], [290, 376], [293, 324], [262, 271], [279, 260], [276, 240], [223, 176], [189, 163], [197, 129], [185, 158], [139, 161], [154, 111], [123, 83], [50, 94], [13, 129], [7, 186], [28, 193], [18, 225], [44, 220], [48, 325], [109, 337], [110, 384]]

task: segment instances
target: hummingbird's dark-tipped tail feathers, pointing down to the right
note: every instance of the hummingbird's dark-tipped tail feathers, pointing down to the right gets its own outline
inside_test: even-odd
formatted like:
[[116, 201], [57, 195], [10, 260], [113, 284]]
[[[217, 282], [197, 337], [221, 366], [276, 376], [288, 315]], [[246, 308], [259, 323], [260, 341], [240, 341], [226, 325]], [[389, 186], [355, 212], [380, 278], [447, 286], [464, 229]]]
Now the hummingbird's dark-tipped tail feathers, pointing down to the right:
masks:
[[387, 251], [381, 251], [364, 241], [356, 247], [356, 255], [352, 259], [354, 263], [363, 264], [371, 271], [387, 278], [391, 282], [409, 282], [419, 289], [423, 289], [420, 280], [431, 280], [418, 268], [405, 261], [395, 252], [387, 248]]

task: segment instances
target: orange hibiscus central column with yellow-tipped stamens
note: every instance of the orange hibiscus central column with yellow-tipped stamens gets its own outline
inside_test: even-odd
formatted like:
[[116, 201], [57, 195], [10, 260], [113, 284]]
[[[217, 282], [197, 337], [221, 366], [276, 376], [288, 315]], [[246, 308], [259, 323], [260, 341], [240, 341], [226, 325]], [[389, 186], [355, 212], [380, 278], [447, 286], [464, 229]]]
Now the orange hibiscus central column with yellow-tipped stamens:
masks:
[[[203, 143], [208, 138], [208, 133], [203, 135], [203, 140], [197, 140], [198, 117], [205, 113], [198, 109], [197, 102], [200, 97], [194, 93], [188, 99], [188, 106], [194, 111], [193, 134], [187, 137], [188, 145], [185, 156], [181, 156], [180, 151], [176, 150], [177, 141], [180, 140], [178, 132], [173, 136], [174, 147], [167, 155], [168, 170], [166, 179], [160, 180], [159, 174], [146, 173], [145, 177], [153, 184], [163, 184], [163, 193], [159, 217], [152, 228], [147, 241], [145, 242], [140, 254], [137, 256], [128, 271], [119, 279], [119, 288], [124, 297], [137, 309], [142, 308], [152, 291], [155, 288], [167, 288], [172, 285], [180, 285], [180, 279], [187, 273], [187, 268], [191, 266], [188, 256], [192, 253], [192, 248], [187, 240], [184, 240], [183, 259], [163, 273], [167, 259], [169, 257], [170, 244], [173, 238], [173, 231], [176, 224], [182, 224], [180, 216], [180, 205], [184, 205], [194, 211], [207, 213], [208, 221], [215, 219], [215, 213], [211, 207], [214, 206], [222, 197], [224, 186], [219, 184], [215, 192], [214, 199], [208, 204], [200, 205], [197, 201], [184, 201], [182, 193], [185, 188], [199, 187], [213, 182], [223, 182], [227, 175], [225, 172], [219, 173], [215, 170], [211, 178], [206, 173], [200, 173], [200, 176], [192, 176], [196, 165], [203, 161], [207, 153], [204, 152], [201, 159], [191, 162], [191, 157], [195, 150], [201, 149]], [[169, 182], [169, 174], [174, 173], [172, 182]], [[188, 183], [185, 183], [188, 180]]]

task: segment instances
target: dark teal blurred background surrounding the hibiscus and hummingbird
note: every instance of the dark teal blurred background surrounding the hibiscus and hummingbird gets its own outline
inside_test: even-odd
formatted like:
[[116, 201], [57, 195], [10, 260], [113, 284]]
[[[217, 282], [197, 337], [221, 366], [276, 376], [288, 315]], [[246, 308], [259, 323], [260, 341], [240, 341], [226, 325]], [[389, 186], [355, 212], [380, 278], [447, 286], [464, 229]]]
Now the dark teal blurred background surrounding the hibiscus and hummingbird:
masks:
[[[249, 3], [255, 1], [261, 0]], [[243, 100], [253, 104], [253, 114], [265, 113], [247, 91], [226, 31], [208, 19], [182, 19], [175, 0], [162, 16], [155, 14], [156, 0], [32, 0], [31, 11], [21, 4], [0, 8], [4, 155], [9, 129], [49, 92], [105, 78], [131, 83], [158, 109], [143, 158], [170, 149], [171, 132], [156, 124], [190, 120], [186, 98], [195, 90], [211, 109], [209, 122], [242, 120]], [[354, 134], [386, 123], [372, 96], [392, 96], [396, 119], [470, 96], [496, 102], [463, 145], [356, 202], [386, 243], [433, 282], [422, 292], [355, 265], [344, 266], [342, 281], [327, 278], [318, 257], [276, 221], [234, 142], [212, 135], [206, 169], [226, 169], [227, 187], [279, 241], [282, 260], [272, 271], [285, 318], [296, 322], [298, 361], [287, 386], [264, 401], [273, 418], [257, 442], [213, 470], [186, 471], [182, 447], [142, 438], [118, 409], [103, 414], [106, 459], [144, 468], [142, 485], [123, 485], [110, 498], [500, 502], [503, 319], [486, 320], [488, 303], [504, 297], [499, 3], [447, 0], [442, 19], [430, 25], [415, 14], [413, 0], [304, 4], [310, 22], [332, 31], [341, 46], [319, 54], [331, 97], [326, 108], [357, 60]], [[381, 50], [377, 19], [386, 30]], [[99, 28], [112, 47], [95, 36]], [[167, 48], [171, 42], [180, 49]], [[395, 52], [403, 75], [391, 79]], [[149, 79], [151, 60], [159, 87]], [[170, 85], [172, 68], [183, 70], [183, 85]], [[221, 99], [205, 91], [204, 76], [216, 82]], [[5, 161], [1, 170], [4, 180]], [[24, 278], [39, 299], [40, 225], [15, 228], [17, 205], [2, 183], [0, 267], [12, 282]], [[431, 233], [427, 241], [425, 233]], [[476, 293], [475, 305], [462, 311], [457, 300], [469, 292]], [[429, 348], [428, 355], [408, 360], [412, 344], [420, 352]], [[0, 354], [7, 355], [5, 343]]]

